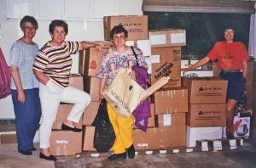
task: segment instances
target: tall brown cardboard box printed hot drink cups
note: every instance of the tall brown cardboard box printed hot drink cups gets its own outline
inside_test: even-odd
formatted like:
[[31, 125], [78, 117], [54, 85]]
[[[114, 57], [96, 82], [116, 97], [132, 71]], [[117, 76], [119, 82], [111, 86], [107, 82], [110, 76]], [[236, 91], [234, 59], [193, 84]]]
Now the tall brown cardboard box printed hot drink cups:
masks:
[[154, 84], [162, 76], [170, 76], [171, 79], [165, 88], [180, 87], [181, 48], [152, 48], [151, 53], [151, 83]]

